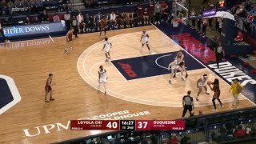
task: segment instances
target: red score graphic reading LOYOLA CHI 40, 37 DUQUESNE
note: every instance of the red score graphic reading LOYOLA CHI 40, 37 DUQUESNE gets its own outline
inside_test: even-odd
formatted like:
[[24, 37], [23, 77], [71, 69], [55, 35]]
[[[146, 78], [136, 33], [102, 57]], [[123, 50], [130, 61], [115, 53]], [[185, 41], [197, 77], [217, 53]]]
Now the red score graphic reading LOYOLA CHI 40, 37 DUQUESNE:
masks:
[[184, 120], [71, 120], [70, 130], [185, 130]]

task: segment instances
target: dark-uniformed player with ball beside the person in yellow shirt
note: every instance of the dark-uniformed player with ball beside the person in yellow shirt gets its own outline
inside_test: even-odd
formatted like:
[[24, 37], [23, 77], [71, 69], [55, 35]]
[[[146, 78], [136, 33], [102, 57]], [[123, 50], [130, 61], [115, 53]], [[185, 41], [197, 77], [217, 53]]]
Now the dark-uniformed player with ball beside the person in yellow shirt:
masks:
[[[211, 87], [210, 85], [214, 85], [214, 86]], [[213, 91], [214, 91], [214, 97], [213, 97], [213, 99], [212, 99], [212, 102], [213, 102], [213, 104], [214, 104], [214, 109], [213, 109], [213, 111], [216, 111], [217, 109], [216, 109], [215, 99], [218, 100], [218, 102], [221, 104], [221, 107], [224, 107], [224, 106], [222, 105], [222, 101], [219, 99], [219, 96], [220, 96], [220, 94], [221, 94], [221, 90], [219, 90], [219, 82], [218, 82], [218, 79], [215, 78], [214, 82], [212, 82], [210, 85], [209, 85], [209, 86], [210, 86], [210, 90], [213, 90]]]

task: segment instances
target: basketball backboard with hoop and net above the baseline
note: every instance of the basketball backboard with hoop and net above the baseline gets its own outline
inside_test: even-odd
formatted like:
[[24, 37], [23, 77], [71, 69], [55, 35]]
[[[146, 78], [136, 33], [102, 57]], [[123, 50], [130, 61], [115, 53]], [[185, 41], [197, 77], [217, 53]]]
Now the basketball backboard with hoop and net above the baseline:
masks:
[[182, 3], [174, 2], [173, 5], [174, 17], [182, 18], [182, 23], [186, 25], [187, 18], [189, 17], [189, 10], [182, 6]]

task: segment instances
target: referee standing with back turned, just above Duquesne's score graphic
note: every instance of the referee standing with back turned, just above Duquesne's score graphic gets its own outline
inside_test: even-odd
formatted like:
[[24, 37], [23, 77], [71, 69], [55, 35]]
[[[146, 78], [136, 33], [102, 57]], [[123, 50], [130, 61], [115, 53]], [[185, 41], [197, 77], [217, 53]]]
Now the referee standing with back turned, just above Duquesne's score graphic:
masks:
[[183, 113], [182, 113], [182, 118], [185, 117], [186, 111], [189, 110], [190, 111], [190, 116], [192, 116], [194, 114], [193, 110], [194, 110], [194, 102], [193, 102], [193, 98], [190, 96], [191, 91], [187, 91], [187, 95], [185, 95], [183, 97], [182, 100], [182, 106], [183, 106]]

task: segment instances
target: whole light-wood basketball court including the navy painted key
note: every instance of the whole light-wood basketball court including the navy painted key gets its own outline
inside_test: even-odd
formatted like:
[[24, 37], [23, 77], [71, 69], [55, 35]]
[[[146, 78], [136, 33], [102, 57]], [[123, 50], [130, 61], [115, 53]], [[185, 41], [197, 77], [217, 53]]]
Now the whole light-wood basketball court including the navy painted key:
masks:
[[[151, 54], [146, 46], [140, 51], [143, 29], [150, 35]], [[217, 102], [218, 112], [230, 110], [230, 86], [193, 55], [185, 53], [188, 78], [182, 81], [178, 73], [168, 83], [167, 66], [182, 47], [154, 26], [107, 31], [107, 37], [113, 44], [110, 62], [105, 62], [98, 33], [79, 35], [70, 54], [63, 53], [65, 37], [2, 44], [0, 73], [14, 79], [21, 101], [0, 115], [0, 143], [61, 142], [106, 132], [71, 131], [71, 119], [181, 118], [182, 97], [192, 90], [195, 99], [196, 82], [203, 74], [211, 81], [220, 80], [225, 107], [219, 108]], [[99, 66], [108, 75], [106, 95], [97, 93]], [[52, 86], [55, 101], [46, 103], [44, 86], [50, 73], [56, 83]], [[195, 114], [198, 110], [212, 113], [212, 95], [202, 90], [194, 102]], [[239, 100], [238, 109], [254, 106], [243, 95]]]

